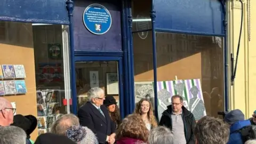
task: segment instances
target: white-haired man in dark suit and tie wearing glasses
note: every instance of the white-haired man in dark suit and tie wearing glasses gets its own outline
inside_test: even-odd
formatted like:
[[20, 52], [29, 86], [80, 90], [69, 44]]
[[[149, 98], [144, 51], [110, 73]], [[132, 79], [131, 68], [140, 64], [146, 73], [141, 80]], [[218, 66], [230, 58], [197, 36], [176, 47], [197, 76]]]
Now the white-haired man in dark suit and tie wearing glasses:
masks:
[[78, 110], [79, 122], [91, 129], [99, 143], [115, 142], [115, 124], [111, 121], [107, 108], [103, 105], [105, 93], [99, 87], [93, 87], [88, 92], [88, 102]]

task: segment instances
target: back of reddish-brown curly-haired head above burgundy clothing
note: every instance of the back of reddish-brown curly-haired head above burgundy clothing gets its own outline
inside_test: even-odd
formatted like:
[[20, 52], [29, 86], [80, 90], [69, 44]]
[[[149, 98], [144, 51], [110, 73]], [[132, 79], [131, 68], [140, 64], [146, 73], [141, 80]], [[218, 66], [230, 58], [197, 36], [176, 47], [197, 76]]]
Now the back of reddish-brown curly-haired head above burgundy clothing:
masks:
[[123, 137], [148, 141], [148, 129], [140, 115], [132, 114], [123, 119], [116, 132], [116, 139]]

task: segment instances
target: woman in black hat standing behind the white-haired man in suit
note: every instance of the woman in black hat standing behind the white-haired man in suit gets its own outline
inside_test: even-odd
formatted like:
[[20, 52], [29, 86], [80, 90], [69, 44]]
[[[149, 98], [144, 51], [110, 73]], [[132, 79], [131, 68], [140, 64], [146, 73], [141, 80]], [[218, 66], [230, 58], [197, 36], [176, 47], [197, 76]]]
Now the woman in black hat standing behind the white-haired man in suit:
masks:
[[116, 99], [113, 96], [107, 96], [103, 101], [103, 104], [107, 107], [110, 118], [113, 122], [115, 122], [117, 129], [121, 123], [121, 118], [116, 103]]

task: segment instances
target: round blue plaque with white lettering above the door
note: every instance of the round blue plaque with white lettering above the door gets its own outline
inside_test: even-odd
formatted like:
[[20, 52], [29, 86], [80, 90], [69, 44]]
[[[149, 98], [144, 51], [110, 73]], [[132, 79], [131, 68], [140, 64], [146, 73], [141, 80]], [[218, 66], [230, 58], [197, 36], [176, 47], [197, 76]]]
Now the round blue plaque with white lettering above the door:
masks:
[[91, 4], [84, 10], [83, 22], [91, 33], [102, 35], [110, 29], [112, 19], [106, 7], [100, 4]]

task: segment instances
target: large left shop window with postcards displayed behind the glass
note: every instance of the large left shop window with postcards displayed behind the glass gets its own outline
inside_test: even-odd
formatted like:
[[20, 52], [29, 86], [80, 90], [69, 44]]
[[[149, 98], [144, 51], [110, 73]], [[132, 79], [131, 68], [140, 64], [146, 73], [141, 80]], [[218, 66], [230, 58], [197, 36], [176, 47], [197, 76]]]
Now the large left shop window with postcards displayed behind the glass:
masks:
[[67, 28], [0, 22], [0, 94], [13, 102], [17, 114], [37, 117], [33, 140], [69, 113], [63, 103], [70, 98], [69, 59], [63, 57], [68, 52]]

